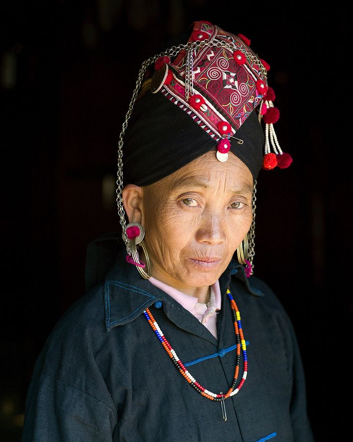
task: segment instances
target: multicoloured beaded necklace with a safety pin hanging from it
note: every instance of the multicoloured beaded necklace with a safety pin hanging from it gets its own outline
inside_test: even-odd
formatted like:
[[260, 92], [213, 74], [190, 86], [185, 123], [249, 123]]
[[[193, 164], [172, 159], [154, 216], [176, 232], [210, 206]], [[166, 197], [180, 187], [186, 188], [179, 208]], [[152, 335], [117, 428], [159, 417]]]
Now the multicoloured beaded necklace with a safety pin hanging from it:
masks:
[[[230, 396], [234, 396], [234, 394], [238, 393], [240, 388], [243, 387], [243, 384], [244, 384], [244, 382], [247, 378], [247, 374], [248, 374], [248, 359], [247, 359], [247, 352], [246, 352], [246, 343], [245, 343], [243, 329], [242, 329], [241, 320], [240, 320], [240, 312], [239, 312], [237, 304], [235, 303], [235, 301], [232, 297], [229, 287], [227, 289], [227, 296], [230, 301], [230, 306], [231, 306], [232, 315], [233, 315], [233, 323], [234, 323], [236, 346], [237, 346], [237, 356], [236, 356], [236, 364], [235, 364], [233, 383], [230, 386], [230, 388], [226, 394], [223, 394], [222, 391], [219, 394], [212, 393], [212, 391], [209, 391], [205, 387], [202, 387], [202, 385], [196, 381], [196, 379], [189, 373], [189, 371], [186, 369], [184, 364], [178, 358], [176, 352], [173, 350], [171, 344], [168, 342], [167, 338], [164, 336], [163, 332], [161, 331], [160, 327], [158, 326], [156, 320], [153, 318], [153, 315], [151, 314], [150, 309], [146, 308], [146, 310], [144, 310], [144, 315], [145, 315], [146, 319], [148, 320], [150, 326], [152, 327], [156, 336], [158, 337], [161, 344], [163, 345], [165, 351], [168, 353], [168, 355], [172, 359], [176, 368], [179, 370], [179, 372], [182, 374], [182, 376], [185, 378], [185, 380], [192, 387], [194, 387], [198, 393], [202, 394], [202, 396], [204, 396], [207, 399], [210, 399], [212, 401], [221, 402], [224, 420], [227, 420], [227, 414], [226, 414], [226, 409], [225, 409], [225, 405], [224, 405], [225, 399], [227, 399]], [[243, 358], [244, 358], [244, 373], [243, 373], [242, 379], [241, 379], [238, 387], [235, 388], [236, 383], [238, 381], [238, 375], [239, 375], [240, 350], [241, 349], [243, 351]]]

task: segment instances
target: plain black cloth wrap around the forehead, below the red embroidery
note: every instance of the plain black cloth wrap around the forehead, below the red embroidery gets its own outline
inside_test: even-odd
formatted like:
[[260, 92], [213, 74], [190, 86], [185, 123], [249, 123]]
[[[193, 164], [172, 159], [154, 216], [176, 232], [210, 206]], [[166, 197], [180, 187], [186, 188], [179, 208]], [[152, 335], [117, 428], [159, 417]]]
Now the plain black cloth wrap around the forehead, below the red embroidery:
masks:
[[[255, 181], [262, 166], [264, 133], [256, 111], [230, 138], [230, 150], [252, 172]], [[204, 153], [217, 151], [216, 142], [162, 94], [150, 91], [137, 101], [123, 145], [125, 184], [147, 186], [175, 172]]]

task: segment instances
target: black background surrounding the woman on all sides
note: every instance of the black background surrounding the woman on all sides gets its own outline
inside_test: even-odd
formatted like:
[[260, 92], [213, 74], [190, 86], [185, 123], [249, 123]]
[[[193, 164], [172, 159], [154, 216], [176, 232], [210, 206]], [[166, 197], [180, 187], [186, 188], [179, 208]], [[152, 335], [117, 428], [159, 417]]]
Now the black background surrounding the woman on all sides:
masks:
[[20, 439], [35, 359], [84, 293], [88, 243], [117, 230], [115, 190], [102, 196], [102, 183], [109, 189], [115, 180], [139, 67], [195, 20], [246, 35], [271, 65], [277, 137], [294, 162], [260, 172], [255, 274], [296, 329], [316, 440], [348, 437], [348, 11], [202, 0], [13, 1], [1, 8], [1, 440]]

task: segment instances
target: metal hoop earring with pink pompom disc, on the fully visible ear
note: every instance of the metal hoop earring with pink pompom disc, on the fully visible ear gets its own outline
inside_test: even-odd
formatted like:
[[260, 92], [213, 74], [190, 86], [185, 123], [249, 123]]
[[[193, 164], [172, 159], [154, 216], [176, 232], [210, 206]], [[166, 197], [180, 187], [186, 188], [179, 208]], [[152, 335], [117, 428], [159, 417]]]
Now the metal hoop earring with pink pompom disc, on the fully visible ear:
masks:
[[[126, 261], [129, 262], [130, 264], [134, 264], [139, 274], [144, 279], [149, 279], [152, 276], [152, 272], [151, 272], [151, 261], [146, 249], [146, 245], [143, 242], [143, 238], [145, 236], [145, 229], [138, 222], [130, 222], [126, 226], [125, 233], [130, 246], [129, 247], [130, 254], [126, 256]], [[140, 261], [136, 247], [137, 245], [139, 245], [142, 248], [145, 255], [146, 263]], [[145, 272], [144, 269], [146, 269], [147, 272]]]

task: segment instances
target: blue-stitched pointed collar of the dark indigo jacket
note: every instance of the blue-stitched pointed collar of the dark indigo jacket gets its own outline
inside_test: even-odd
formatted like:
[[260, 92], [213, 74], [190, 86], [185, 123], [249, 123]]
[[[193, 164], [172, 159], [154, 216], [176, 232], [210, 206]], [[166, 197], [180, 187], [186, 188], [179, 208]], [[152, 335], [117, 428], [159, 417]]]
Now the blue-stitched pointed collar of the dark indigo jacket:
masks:
[[[152, 285], [149, 280], [143, 279], [135, 267], [126, 262], [125, 257], [126, 251], [122, 247], [117, 254], [114, 266], [104, 280], [105, 325], [107, 331], [133, 321], [146, 308], [159, 301], [163, 305], [165, 314], [180, 328], [185, 328], [187, 323], [188, 331], [217, 343], [216, 338], [210, 331], [190, 312], [163, 290]], [[226, 293], [232, 276], [241, 280], [252, 295], [263, 296], [261, 292], [259, 293], [250, 285], [244, 267], [235, 260], [230, 261], [227, 269], [220, 276], [221, 294]]]

